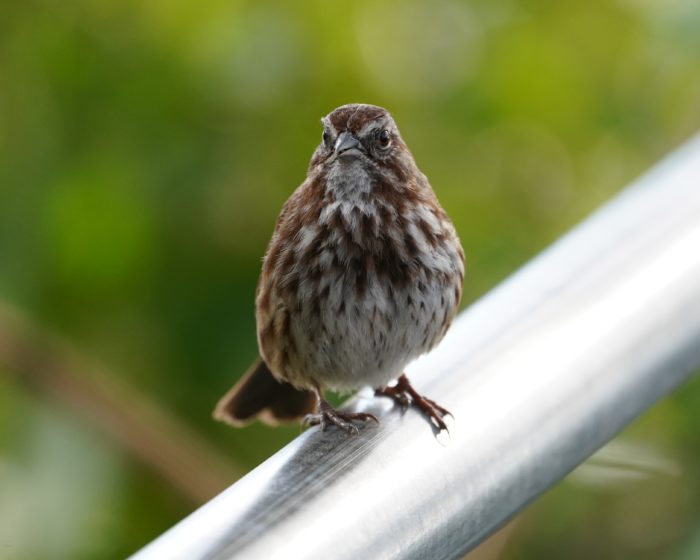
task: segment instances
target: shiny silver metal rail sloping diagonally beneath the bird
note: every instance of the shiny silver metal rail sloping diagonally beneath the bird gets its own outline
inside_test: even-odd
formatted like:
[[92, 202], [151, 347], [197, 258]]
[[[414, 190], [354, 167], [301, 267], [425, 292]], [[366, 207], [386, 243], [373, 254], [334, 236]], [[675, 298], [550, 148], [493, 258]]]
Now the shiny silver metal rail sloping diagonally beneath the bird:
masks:
[[380, 426], [308, 430], [134, 558], [458, 558], [698, 366], [700, 137], [413, 364], [449, 437], [361, 394]]

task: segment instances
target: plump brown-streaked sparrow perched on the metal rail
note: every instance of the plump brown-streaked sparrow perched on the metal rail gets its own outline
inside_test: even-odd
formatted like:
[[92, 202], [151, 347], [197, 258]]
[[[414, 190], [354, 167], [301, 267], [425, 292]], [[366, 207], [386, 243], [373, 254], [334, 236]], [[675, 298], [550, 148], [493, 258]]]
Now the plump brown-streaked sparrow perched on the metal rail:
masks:
[[446, 429], [447, 410], [402, 371], [456, 313], [464, 252], [455, 229], [385, 109], [344, 105], [322, 124], [307, 178], [265, 254], [256, 298], [262, 359], [214, 416], [240, 425], [306, 415], [322, 429], [357, 431], [353, 421], [377, 418], [337, 411], [323, 391], [369, 385]]

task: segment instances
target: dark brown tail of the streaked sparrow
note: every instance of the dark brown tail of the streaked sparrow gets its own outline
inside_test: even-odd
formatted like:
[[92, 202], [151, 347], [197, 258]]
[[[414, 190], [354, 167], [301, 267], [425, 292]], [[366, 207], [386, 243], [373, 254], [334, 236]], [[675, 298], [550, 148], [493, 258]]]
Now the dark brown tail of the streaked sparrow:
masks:
[[214, 418], [232, 426], [243, 426], [254, 420], [277, 425], [314, 412], [316, 395], [284, 381], [277, 381], [265, 362], [258, 360], [250, 367], [214, 409]]

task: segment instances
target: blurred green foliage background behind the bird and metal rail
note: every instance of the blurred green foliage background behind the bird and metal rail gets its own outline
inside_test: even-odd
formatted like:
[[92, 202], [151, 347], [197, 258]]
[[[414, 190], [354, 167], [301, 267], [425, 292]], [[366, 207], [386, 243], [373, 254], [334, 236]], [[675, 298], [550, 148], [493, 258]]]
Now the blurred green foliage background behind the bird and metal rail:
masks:
[[[0, 558], [123, 557], [299, 432], [210, 412], [334, 107], [394, 114], [465, 306], [700, 128], [693, 0], [300, 5], [0, 3]], [[700, 558], [699, 409], [695, 380], [625, 435], [644, 468], [476, 555]]]

